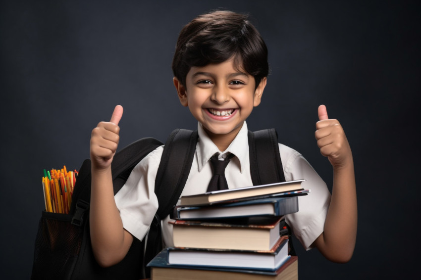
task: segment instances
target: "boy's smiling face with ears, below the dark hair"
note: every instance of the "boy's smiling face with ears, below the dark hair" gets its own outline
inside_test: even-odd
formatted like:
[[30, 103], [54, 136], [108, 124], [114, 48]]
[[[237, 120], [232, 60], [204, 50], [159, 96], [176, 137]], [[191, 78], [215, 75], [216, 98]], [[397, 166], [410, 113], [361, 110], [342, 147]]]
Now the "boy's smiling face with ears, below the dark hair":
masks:
[[253, 76], [236, 70], [232, 59], [204, 67], [192, 67], [186, 85], [174, 78], [181, 104], [188, 106], [213, 140], [232, 141], [254, 106], [261, 101], [266, 78], [256, 88]]

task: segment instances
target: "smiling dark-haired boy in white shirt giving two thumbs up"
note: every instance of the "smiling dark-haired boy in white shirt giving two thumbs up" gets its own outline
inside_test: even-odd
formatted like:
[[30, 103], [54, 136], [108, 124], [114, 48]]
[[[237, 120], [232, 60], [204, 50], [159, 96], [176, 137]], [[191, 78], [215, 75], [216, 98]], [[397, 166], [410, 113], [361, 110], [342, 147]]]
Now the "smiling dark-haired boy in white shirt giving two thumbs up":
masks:
[[[182, 195], [207, 190], [210, 158], [233, 156], [225, 169], [228, 187], [251, 186], [247, 124], [261, 102], [268, 75], [267, 49], [247, 16], [230, 11], [201, 15], [181, 31], [173, 58], [174, 86], [183, 106], [198, 120], [199, 140]], [[103, 266], [124, 258], [133, 236], [143, 239], [158, 209], [154, 193], [162, 147], [146, 156], [125, 186], [113, 195], [110, 164], [117, 149], [123, 108], [117, 105], [110, 122], [101, 122], [91, 137], [92, 247]], [[298, 213], [286, 215], [306, 249], [317, 247], [329, 260], [347, 262], [356, 239], [357, 201], [351, 149], [337, 120], [318, 108], [316, 140], [333, 167], [330, 195], [324, 182], [295, 150], [279, 144], [287, 181], [306, 179], [310, 195], [299, 198]], [[230, 156], [230, 157], [231, 157]], [[206, 183], [204, 183], [206, 182]], [[172, 244], [169, 218], [162, 221], [165, 245]]]

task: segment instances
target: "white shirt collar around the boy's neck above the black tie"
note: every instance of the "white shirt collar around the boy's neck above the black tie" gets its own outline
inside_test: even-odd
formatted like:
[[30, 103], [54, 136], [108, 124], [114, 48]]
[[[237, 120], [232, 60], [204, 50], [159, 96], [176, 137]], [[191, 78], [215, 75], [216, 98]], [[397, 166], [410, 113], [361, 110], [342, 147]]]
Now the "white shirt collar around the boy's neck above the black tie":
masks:
[[234, 154], [240, 162], [241, 173], [243, 173], [244, 170], [247, 170], [248, 168], [250, 168], [249, 139], [247, 135], [248, 129], [247, 129], [247, 124], [245, 121], [240, 131], [238, 132], [237, 136], [234, 138], [234, 140], [231, 142], [231, 144], [228, 146], [228, 148], [224, 152], [221, 152], [218, 149], [218, 147], [212, 142], [208, 134], [203, 129], [201, 123], [198, 123], [197, 130], [198, 130], [199, 140], [196, 145], [196, 154], [198, 158], [199, 172], [202, 170], [205, 164], [209, 161], [211, 156], [214, 155], [216, 152], [219, 152], [219, 153], [230, 152]]

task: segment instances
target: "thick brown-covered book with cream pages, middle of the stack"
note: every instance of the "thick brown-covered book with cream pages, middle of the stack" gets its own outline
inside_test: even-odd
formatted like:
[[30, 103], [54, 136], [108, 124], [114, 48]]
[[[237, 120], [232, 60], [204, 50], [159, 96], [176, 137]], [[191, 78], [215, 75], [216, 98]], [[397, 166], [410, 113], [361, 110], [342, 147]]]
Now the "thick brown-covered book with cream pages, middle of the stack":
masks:
[[270, 250], [279, 239], [281, 220], [284, 217], [250, 219], [247, 224], [184, 220], [169, 223], [173, 226], [175, 247]]

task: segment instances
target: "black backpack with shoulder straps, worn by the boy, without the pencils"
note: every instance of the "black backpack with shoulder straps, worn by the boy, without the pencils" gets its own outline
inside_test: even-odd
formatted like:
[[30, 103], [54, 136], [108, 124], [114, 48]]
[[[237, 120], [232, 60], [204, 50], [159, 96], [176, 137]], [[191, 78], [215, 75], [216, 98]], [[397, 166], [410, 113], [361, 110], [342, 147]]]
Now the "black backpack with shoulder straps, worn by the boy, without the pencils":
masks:
[[[197, 131], [176, 129], [170, 134], [155, 182], [159, 208], [151, 224], [147, 244], [134, 237], [125, 258], [108, 268], [100, 267], [92, 252], [89, 232], [91, 161], [86, 159], [79, 169], [69, 214], [42, 213], [31, 279], [149, 278], [150, 270], [146, 265], [162, 249], [160, 221], [172, 213], [181, 195], [190, 173], [197, 138]], [[275, 130], [249, 131], [248, 138], [253, 185], [284, 182]], [[143, 138], [115, 154], [111, 164], [114, 194], [124, 185], [140, 160], [160, 145], [162, 143], [156, 139]], [[292, 246], [291, 250], [293, 252]]]

